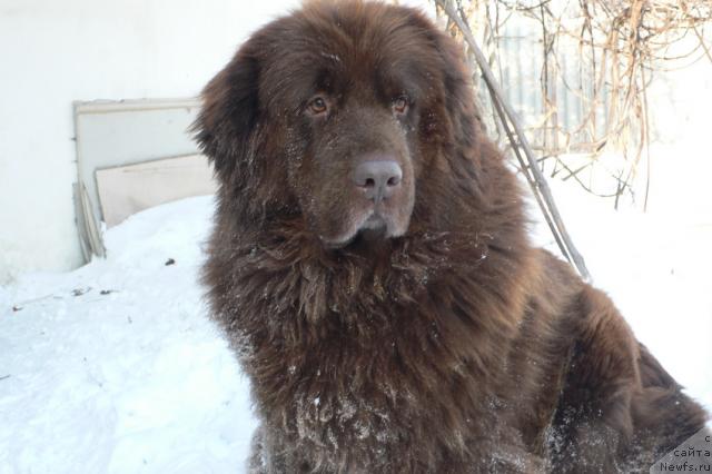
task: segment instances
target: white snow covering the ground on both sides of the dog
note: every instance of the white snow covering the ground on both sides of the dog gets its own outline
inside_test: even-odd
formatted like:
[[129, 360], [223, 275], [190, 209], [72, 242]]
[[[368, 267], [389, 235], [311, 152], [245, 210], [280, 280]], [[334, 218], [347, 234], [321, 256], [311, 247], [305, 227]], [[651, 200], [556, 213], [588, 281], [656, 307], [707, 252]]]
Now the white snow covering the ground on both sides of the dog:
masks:
[[[712, 218], [555, 190], [595, 284], [712, 408]], [[248, 383], [197, 283], [212, 205], [149, 209], [107, 233], [106, 260], [0, 287], [0, 474], [241, 472]]]

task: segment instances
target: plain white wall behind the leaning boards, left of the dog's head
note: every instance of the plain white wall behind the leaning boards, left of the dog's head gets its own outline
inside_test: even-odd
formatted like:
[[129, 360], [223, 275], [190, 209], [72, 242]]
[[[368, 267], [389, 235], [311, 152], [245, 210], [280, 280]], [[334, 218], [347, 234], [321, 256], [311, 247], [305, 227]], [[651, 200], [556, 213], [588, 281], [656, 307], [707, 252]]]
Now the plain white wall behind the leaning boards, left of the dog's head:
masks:
[[0, 284], [81, 263], [72, 101], [196, 96], [296, 0], [0, 0]]

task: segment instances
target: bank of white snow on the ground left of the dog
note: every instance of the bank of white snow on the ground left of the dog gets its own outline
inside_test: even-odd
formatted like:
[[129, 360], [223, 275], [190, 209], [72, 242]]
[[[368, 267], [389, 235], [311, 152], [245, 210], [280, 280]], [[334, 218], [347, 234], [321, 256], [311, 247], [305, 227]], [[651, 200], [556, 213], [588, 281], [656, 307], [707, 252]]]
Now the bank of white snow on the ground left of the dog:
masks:
[[149, 209], [107, 260], [0, 289], [0, 473], [239, 470], [248, 385], [196, 284], [211, 209]]

